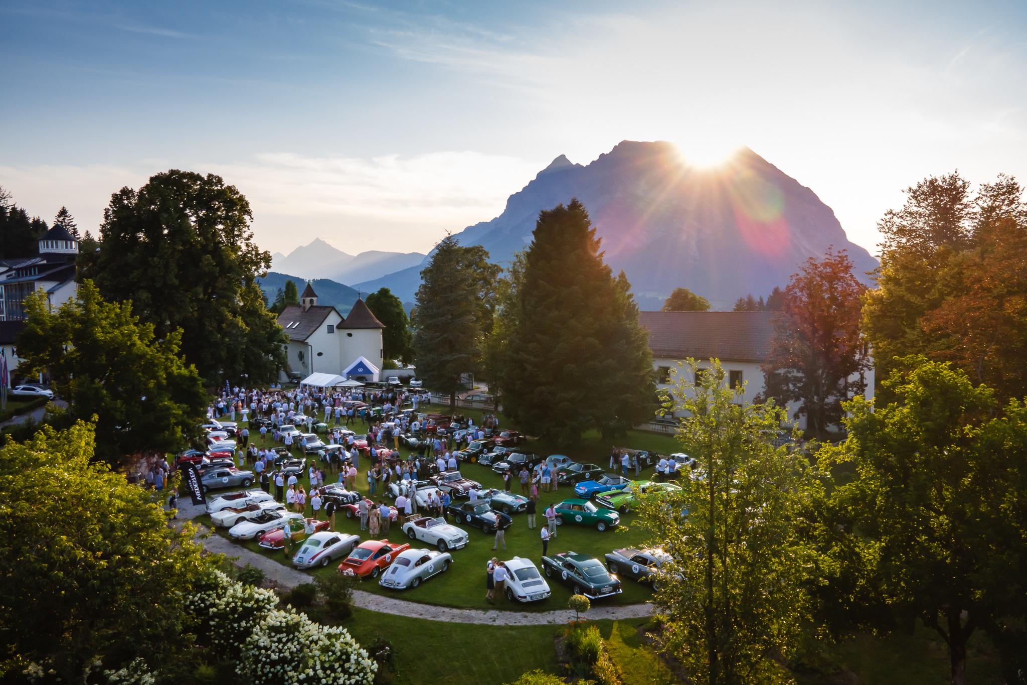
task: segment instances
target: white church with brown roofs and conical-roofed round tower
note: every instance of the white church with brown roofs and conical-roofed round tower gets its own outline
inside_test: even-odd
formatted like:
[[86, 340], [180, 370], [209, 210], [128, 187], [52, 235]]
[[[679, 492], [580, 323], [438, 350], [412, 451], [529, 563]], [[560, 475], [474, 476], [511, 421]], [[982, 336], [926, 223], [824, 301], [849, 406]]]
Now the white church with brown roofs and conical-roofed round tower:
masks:
[[278, 314], [278, 325], [289, 334], [289, 368], [281, 373], [282, 381], [313, 374], [379, 380], [385, 326], [363, 299], [357, 298], [349, 315], [343, 316], [333, 306], [317, 304], [317, 295], [307, 283], [299, 306], [286, 307]]

